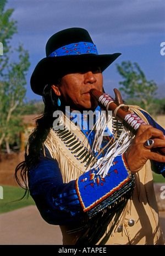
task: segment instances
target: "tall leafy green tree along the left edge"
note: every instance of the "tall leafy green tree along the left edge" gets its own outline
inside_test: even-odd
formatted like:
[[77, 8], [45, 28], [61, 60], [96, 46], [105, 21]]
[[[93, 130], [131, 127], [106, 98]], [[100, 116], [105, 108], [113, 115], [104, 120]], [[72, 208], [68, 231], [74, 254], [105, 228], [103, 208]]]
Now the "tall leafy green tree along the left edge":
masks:
[[[10, 153], [9, 144], [13, 143], [23, 130], [21, 110], [26, 93], [26, 72], [29, 69], [29, 54], [19, 45], [11, 50], [9, 45], [12, 36], [17, 33], [17, 22], [11, 18], [13, 9], [5, 11], [6, 0], [0, 1], [0, 41], [3, 44], [3, 56], [0, 61], [0, 147], [4, 143]], [[16, 61], [11, 61], [12, 52], [18, 55]]]

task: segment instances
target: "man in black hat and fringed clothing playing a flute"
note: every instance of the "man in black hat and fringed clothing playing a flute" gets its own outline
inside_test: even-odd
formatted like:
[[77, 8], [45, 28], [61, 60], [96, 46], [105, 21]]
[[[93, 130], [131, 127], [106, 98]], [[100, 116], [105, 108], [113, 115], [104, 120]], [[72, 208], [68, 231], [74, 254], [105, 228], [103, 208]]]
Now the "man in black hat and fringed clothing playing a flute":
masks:
[[[70, 28], [48, 40], [47, 57], [31, 76], [45, 111], [16, 173], [21, 170], [25, 184], [28, 175], [41, 216], [61, 226], [63, 244], [164, 244], [147, 161], [164, 175], [165, 156], [151, 151], [165, 147], [164, 130], [136, 109], [151, 125], [141, 125], [123, 149], [112, 129], [116, 119], [102, 123], [103, 109], [91, 96], [92, 89], [103, 91], [102, 72], [119, 55], [98, 55], [85, 29]], [[95, 112], [91, 129], [89, 110]]]

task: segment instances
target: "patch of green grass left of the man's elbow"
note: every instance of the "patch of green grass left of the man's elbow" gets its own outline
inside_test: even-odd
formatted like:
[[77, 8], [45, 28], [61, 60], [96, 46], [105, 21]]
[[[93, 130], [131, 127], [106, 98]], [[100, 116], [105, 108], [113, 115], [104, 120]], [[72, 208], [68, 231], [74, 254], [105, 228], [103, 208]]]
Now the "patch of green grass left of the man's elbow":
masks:
[[3, 199], [0, 199], [0, 213], [13, 211], [29, 205], [35, 205], [35, 202], [30, 195], [28, 198], [25, 197], [22, 200], [19, 200], [25, 192], [24, 189], [21, 189], [21, 187], [4, 185], [1, 185], [1, 187], [3, 188]]

